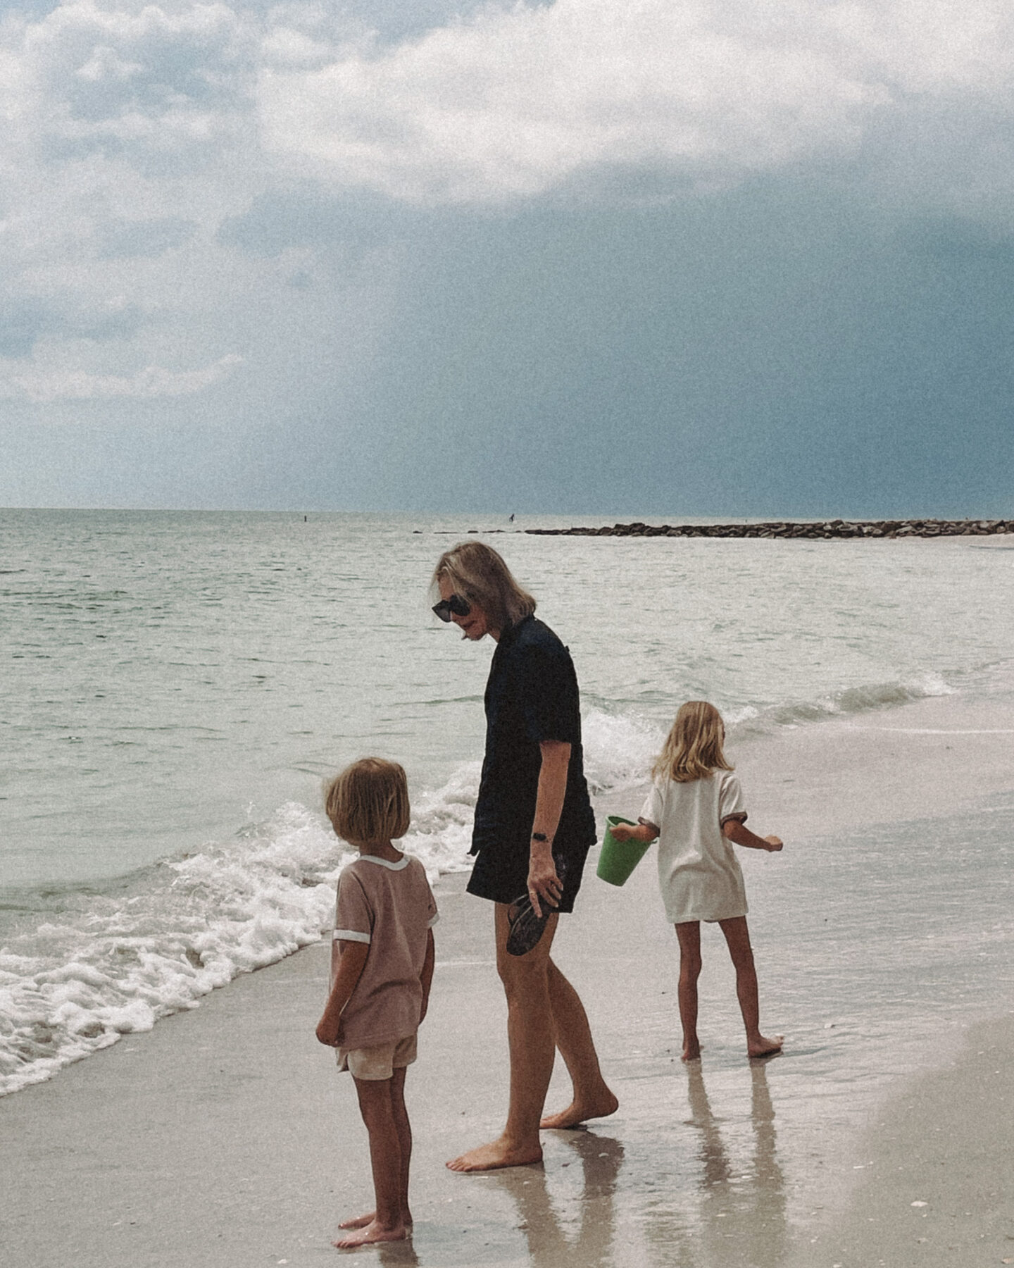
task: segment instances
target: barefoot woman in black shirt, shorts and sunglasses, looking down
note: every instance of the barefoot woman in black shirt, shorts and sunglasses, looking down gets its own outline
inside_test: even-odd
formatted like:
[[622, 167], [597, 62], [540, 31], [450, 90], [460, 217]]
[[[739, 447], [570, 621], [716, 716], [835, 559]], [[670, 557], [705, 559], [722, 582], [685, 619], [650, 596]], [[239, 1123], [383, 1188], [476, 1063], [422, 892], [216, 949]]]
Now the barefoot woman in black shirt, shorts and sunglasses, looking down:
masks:
[[[501, 1135], [447, 1163], [455, 1172], [482, 1172], [539, 1161], [540, 1126], [575, 1127], [616, 1110], [581, 999], [550, 959], [559, 913], [573, 910], [596, 829], [570, 653], [536, 620], [535, 600], [482, 541], [442, 554], [433, 585], [441, 620], [454, 621], [472, 642], [488, 634], [497, 644], [485, 687], [485, 758], [468, 890], [496, 904], [511, 1096]], [[544, 1118], [555, 1047], [574, 1094], [567, 1110]]]

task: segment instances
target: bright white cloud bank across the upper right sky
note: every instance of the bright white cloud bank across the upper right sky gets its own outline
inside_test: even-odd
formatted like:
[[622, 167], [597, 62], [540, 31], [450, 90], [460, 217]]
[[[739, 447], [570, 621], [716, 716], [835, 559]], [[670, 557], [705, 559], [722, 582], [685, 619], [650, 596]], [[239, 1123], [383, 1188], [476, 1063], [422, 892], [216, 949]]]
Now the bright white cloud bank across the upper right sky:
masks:
[[1014, 105], [1006, 0], [556, 0], [359, 41], [327, 65], [290, 48], [276, 30], [261, 51], [265, 146], [336, 185], [431, 204], [617, 169], [711, 189], [854, 151], [902, 104]]

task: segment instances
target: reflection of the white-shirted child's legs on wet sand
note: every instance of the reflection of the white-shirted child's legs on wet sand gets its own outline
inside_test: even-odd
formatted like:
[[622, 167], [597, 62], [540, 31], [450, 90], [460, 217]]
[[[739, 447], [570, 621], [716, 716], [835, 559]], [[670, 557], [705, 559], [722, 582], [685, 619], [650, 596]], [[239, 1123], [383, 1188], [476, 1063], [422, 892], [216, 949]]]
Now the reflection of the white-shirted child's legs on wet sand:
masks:
[[776, 1268], [786, 1245], [785, 1179], [778, 1164], [774, 1106], [763, 1061], [750, 1063], [749, 1156], [730, 1158], [697, 1063], [687, 1066], [690, 1126], [698, 1134], [696, 1217], [669, 1208], [645, 1226], [651, 1259], [662, 1268]]

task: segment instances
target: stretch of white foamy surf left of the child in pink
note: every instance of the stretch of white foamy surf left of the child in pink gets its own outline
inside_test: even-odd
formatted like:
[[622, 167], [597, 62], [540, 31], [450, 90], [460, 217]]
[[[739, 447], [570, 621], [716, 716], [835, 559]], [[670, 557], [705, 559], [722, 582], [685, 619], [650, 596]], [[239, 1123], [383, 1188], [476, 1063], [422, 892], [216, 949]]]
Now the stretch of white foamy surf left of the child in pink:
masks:
[[346, 847], [289, 803], [224, 847], [166, 860], [0, 948], [0, 1094], [195, 1008], [318, 941]]

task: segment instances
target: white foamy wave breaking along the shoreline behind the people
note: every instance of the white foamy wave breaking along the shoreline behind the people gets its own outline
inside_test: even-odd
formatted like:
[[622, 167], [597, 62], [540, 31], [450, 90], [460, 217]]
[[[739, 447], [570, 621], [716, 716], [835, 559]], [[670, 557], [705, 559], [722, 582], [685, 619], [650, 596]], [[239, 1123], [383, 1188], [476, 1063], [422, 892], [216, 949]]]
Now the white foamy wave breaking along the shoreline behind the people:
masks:
[[[730, 733], [745, 738], [952, 690], [927, 675], [818, 701], [719, 706]], [[589, 710], [583, 734], [592, 792], [644, 781], [667, 728], [668, 720]], [[402, 844], [431, 881], [472, 866], [479, 773], [480, 763], [468, 762], [413, 799]], [[319, 812], [286, 803], [226, 844], [164, 860], [101, 893], [51, 890], [38, 904], [44, 923], [0, 947], [0, 1096], [196, 1008], [238, 974], [317, 942], [331, 926], [337, 876], [351, 857]]]

